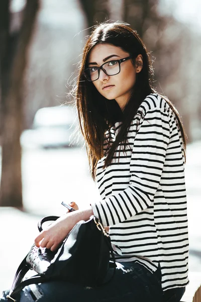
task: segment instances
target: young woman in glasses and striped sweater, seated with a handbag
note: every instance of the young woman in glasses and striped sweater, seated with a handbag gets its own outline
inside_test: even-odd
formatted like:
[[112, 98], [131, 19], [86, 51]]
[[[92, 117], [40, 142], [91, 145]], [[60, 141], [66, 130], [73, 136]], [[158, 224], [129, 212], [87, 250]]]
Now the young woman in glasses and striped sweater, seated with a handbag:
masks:
[[100, 198], [60, 217], [35, 244], [56, 250], [79, 220], [94, 214], [109, 230], [117, 274], [99, 288], [30, 285], [21, 302], [182, 297], [188, 284], [185, 134], [176, 109], [152, 88], [151, 77], [136, 31], [121, 22], [95, 26], [84, 47], [76, 101]]

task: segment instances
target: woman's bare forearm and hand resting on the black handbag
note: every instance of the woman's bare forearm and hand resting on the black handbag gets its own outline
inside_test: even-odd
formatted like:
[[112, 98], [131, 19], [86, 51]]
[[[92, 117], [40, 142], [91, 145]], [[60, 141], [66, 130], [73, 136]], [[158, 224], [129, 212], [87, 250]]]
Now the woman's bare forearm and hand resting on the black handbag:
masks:
[[55, 251], [72, 230], [73, 226], [80, 220], [88, 220], [91, 215], [93, 215], [91, 206], [84, 210], [76, 210], [64, 214], [36, 237], [35, 245]]

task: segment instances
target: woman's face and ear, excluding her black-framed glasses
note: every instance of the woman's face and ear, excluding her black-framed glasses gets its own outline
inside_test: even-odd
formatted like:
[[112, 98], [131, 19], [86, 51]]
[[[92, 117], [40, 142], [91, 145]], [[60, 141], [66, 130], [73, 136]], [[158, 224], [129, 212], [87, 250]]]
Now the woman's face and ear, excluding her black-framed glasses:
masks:
[[[128, 56], [130, 54], [120, 47], [112, 44], [97, 44], [89, 53], [88, 67], [100, 66], [105, 62], [119, 60]], [[142, 64], [142, 55], [139, 54], [136, 60]], [[121, 63], [121, 71], [118, 74], [107, 75], [100, 69], [98, 80], [92, 83], [100, 94], [108, 100], [115, 99], [120, 108], [123, 109], [135, 84], [136, 73], [140, 72], [141, 69], [142, 66], [134, 66], [132, 60], [129, 59]], [[109, 87], [105, 88], [106, 86]]]

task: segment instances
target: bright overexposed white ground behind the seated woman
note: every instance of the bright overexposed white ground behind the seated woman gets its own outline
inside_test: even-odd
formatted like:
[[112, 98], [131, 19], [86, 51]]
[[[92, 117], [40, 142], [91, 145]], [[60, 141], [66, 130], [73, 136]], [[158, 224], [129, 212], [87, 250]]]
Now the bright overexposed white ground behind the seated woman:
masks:
[[[201, 272], [200, 154], [201, 142], [188, 146], [185, 175], [190, 243], [189, 270], [196, 274], [190, 274], [192, 282], [191, 287], [186, 290], [187, 295], [196, 289], [199, 280], [201, 283], [201, 275], [199, 275]], [[87, 159], [83, 150], [25, 152], [23, 171], [24, 204], [29, 213], [15, 208], [0, 208], [0, 292], [11, 286], [17, 266], [38, 234], [37, 222], [43, 215], [62, 215], [64, 208], [60, 202], [67, 201], [66, 196], [68, 200], [78, 200], [80, 207], [97, 198], [97, 191], [89, 177]]]

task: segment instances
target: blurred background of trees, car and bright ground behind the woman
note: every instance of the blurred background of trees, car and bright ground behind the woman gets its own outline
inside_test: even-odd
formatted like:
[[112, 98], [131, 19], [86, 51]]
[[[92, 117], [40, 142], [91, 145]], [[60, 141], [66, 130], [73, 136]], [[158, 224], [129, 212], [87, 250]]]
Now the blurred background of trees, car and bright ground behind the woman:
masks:
[[81, 208], [99, 198], [81, 137], [70, 144], [77, 118], [69, 93], [90, 28], [106, 20], [137, 30], [155, 88], [182, 116], [189, 269], [201, 271], [200, 11], [198, 0], [1, 0], [0, 291], [11, 286], [42, 216], [64, 214], [61, 201]]

